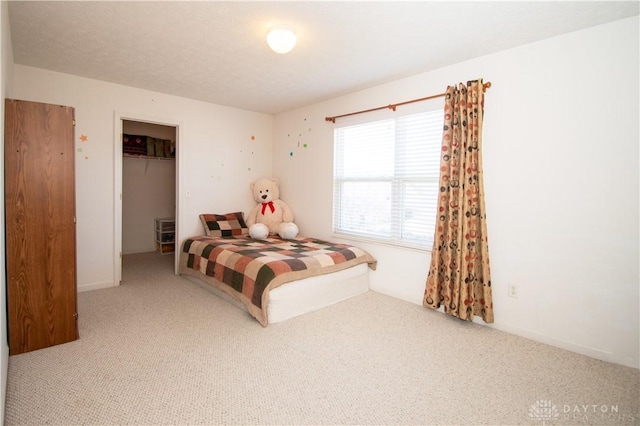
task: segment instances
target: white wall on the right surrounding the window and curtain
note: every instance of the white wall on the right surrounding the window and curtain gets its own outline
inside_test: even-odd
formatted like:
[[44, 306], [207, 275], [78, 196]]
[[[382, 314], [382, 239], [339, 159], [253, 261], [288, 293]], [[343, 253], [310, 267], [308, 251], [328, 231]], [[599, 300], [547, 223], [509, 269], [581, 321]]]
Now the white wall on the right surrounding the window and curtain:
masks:
[[[638, 17], [625, 19], [280, 114], [282, 199], [301, 233], [331, 238], [325, 116], [491, 81], [483, 153], [493, 326], [638, 368], [638, 32]], [[356, 243], [378, 259], [374, 290], [422, 303], [430, 253]], [[507, 297], [509, 283], [518, 299]]]

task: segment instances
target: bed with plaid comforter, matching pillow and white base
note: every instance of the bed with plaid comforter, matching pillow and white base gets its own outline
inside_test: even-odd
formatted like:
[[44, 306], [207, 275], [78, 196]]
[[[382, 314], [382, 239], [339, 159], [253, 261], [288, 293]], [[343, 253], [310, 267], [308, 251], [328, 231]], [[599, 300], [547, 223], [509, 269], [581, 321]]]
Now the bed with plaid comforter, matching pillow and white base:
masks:
[[248, 236], [242, 213], [200, 215], [207, 235], [187, 238], [179, 272], [246, 307], [264, 327], [369, 290], [366, 251], [310, 237]]

